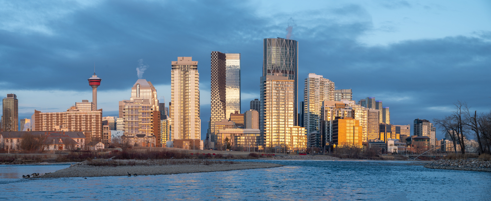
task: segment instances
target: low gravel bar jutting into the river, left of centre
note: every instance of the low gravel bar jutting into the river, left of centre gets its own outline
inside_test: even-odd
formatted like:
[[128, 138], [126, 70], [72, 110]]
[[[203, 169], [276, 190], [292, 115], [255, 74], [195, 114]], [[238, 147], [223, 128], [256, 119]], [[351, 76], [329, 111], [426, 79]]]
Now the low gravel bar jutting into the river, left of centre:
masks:
[[53, 173], [37, 178], [69, 178], [69, 177], [107, 177], [134, 175], [167, 175], [181, 173], [216, 172], [245, 170], [256, 168], [273, 168], [283, 165], [273, 163], [246, 161], [212, 161], [199, 159], [162, 159], [162, 160], [113, 160], [111, 162], [126, 163], [119, 166], [92, 166], [87, 161], [72, 165]]

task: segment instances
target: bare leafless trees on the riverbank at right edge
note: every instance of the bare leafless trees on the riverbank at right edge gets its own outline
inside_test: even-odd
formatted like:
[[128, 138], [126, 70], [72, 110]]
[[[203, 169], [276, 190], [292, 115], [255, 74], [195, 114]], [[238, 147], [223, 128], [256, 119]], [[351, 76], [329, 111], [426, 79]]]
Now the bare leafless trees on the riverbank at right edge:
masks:
[[465, 139], [475, 137], [479, 144], [479, 154], [491, 153], [491, 111], [477, 113], [472, 112], [467, 103], [457, 101], [452, 114], [443, 118], [435, 118], [433, 122], [453, 143], [454, 152], [457, 153], [457, 145], [462, 154], [465, 154]]

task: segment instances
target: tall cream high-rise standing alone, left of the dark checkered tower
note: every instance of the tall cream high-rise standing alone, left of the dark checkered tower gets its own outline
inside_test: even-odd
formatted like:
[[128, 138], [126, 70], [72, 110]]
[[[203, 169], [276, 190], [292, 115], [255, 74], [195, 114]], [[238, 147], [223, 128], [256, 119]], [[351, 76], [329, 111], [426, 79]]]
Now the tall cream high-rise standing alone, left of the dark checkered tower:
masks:
[[201, 139], [198, 62], [178, 57], [172, 62], [169, 117], [173, 139]]

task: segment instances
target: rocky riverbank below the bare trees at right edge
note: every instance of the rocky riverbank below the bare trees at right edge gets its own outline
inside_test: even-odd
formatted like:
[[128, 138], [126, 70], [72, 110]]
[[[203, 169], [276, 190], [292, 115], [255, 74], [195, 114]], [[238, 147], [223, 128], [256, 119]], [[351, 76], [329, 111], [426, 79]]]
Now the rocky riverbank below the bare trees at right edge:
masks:
[[479, 159], [440, 159], [424, 165], [425, 168], [448, 169], [448, 170], [468, 170], [491, 172], [491, 161]]

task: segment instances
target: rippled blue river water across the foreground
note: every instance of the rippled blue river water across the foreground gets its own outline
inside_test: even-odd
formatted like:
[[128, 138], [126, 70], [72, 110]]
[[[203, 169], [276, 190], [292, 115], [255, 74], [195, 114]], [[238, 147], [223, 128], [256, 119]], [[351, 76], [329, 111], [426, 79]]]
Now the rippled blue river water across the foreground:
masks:
[[490, 172], [427, 169], [406, 161], [269, 162], [285, 166], [159, 176], [22, 179], [27, 173], [53, 172], [69, 165], [0, 165], [0, 200], [491, 200]]

